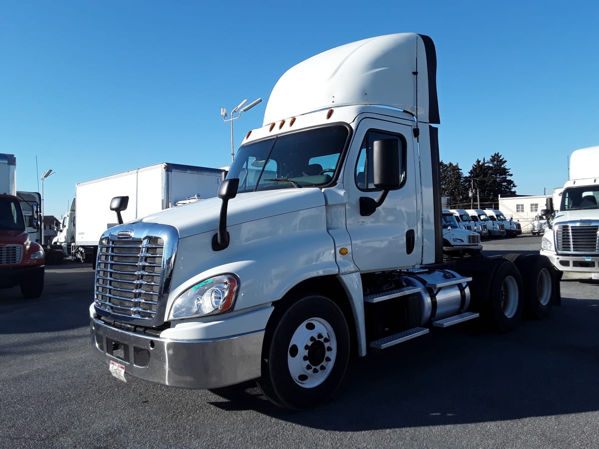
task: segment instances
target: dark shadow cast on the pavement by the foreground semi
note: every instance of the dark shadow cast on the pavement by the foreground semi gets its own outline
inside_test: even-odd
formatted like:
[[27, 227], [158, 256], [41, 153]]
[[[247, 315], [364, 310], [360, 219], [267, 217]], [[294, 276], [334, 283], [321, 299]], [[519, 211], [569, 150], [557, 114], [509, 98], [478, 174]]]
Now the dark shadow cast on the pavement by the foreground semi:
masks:
[[324, 405], [280, 411], [252, 384], [215, 390], [226, 409], [335, 431], [515, 420], [599, 409], [599, 301], [564, 298], [507, 335], [474, 322], [353, 360]]

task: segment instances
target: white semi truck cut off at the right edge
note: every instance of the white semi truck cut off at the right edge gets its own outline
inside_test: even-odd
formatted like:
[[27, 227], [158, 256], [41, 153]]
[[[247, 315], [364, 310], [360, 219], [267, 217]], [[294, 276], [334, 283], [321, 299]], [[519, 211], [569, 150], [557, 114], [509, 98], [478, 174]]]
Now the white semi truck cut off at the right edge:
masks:
[[[547, 199], [541, 215], [550, 214], [541, 254], [565, 278], [599, 280], [599, 146], [581, 148], [570, 157], [570, 179], [559, 202]], [[554, 210], [555, 208], [555, 210]]]

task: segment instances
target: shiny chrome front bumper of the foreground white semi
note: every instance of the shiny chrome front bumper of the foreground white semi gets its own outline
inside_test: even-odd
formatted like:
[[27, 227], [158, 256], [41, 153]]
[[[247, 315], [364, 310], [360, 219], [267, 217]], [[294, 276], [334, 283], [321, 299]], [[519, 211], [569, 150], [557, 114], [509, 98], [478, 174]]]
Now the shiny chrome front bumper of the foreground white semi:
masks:
[[226, 387], [261, 375], [264, 330], [219, 339], [174, 340], [140, 335], [91, 319], [92, 350], [125, 373], [172, 387]]

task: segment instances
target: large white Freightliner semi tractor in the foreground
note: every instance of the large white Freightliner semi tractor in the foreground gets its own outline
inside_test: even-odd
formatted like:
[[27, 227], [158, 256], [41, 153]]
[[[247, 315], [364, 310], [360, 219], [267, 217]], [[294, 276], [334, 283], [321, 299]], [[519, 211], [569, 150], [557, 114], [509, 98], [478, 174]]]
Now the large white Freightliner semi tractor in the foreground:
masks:
[[418, 34], [299, 63], [218, 198], [106, 230], [90, 331], [110, 372], [184, 388], [257, 379], [305, 409], [335, 392], [350, 354], [549, 313], [558, 272], [539, 254], [442, 263], [436, 64]]

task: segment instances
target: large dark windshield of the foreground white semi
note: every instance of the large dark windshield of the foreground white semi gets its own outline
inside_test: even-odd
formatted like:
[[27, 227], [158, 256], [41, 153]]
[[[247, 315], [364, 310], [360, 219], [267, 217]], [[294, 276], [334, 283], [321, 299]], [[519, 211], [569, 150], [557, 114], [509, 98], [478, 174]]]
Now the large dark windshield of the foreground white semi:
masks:
[[227, 178], [239, 178], [238, 193], [325, 186], [348, 136], [346, 126], [322, 126], [243, 145]]

